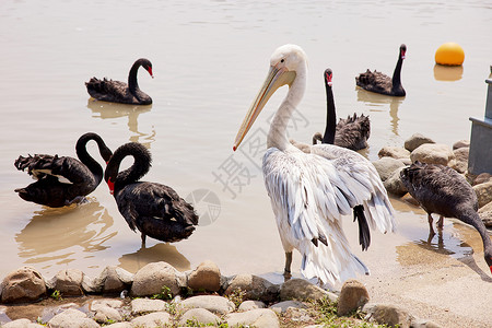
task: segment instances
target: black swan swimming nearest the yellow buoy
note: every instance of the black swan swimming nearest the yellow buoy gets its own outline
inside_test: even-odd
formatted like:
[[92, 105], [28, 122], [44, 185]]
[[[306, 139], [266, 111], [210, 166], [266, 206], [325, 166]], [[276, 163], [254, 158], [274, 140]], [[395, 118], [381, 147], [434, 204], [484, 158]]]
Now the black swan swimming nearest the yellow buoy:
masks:
[[401, 45], [398, 54], [397, 66], [395, 67], [395, 72], [393, 73], [393, 79], [376, 70], [374, 72], [367, 70], [365, 73], [361, 73], [355, 78], [356, 84], [371, 92], [390, 96], [405, 96], [406, 92], [401, 85], [401, 65], [403, 63], [406, 52], [407, 46]]

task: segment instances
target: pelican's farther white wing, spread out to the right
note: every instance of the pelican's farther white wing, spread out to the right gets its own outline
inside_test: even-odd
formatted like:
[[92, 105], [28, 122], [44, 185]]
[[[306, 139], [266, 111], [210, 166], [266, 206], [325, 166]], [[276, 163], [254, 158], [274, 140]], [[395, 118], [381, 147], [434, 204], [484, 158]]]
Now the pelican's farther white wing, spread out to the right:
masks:
[[374, 165], [361, 154], [331, 144], [316, 144], [312, 153], [323, 156], [349, 181], [349, 189], [355, 192], [358, 204], [363, 204], [372, 229], [382, 233], [395, 232], [395, 210], [386, 188]]

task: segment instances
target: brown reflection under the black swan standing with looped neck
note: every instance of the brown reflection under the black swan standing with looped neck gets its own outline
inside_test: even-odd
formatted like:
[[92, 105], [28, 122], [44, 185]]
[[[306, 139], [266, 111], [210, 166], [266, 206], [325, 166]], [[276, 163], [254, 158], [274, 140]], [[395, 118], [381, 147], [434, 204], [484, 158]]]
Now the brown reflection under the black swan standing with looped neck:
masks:
[[141, 247], [136, 253], [125, 254], [119, 258], [119, 267], [129, 272], [137, 272], [150, 262], [165, 261], [179, 271], [189, 270], [189, 260], [171, 244], [159, 243], [150, 248]]

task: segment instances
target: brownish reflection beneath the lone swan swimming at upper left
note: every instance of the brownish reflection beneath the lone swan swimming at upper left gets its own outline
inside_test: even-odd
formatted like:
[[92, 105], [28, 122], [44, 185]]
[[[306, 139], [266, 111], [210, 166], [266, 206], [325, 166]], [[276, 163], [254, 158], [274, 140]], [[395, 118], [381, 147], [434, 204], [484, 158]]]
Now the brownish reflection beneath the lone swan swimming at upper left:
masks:
[[128, 116], [128, 129], [133, 136], [130, 137], [130, 141], [139, 142], [150, 148], [151, 143], [155, 141], [155, 129], [152, 127], [152, 131], [144, 133], [139, 131], [139, 115], [148, 113], [152, 109], [152, 105], [126, 105], [107, 102], [98, 102], [92, 98], [87, 101], [87, 108], [93, 113], [93, 117], [99, 117], [102, 119], [112, 119]]

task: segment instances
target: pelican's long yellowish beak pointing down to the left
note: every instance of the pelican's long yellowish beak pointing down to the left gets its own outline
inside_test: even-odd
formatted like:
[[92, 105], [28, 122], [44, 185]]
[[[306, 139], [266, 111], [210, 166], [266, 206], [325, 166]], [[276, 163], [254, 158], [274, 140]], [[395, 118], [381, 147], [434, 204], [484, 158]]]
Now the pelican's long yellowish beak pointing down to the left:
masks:
[[241, 125], [239, 131], [237, 132], [236, 136], [236, 140], [234, 141], [233, 145], [234, 151], [236, 151], [236, 149], [239, 147], [244, 137], [251, 128], [253, 124], [260, 114], [261, 109], [263, 109], [265, 105], [267, 104], [271, 95], [276, 93], [276, 91], [280, 86], [283, 86], [285, 84], [289, 84], [290, 86], [294, 80], [295, 80], [295, 71], [289, 71], [284, 67], [280, 69], [274, 66], [270, 67], [270, 70], [268, 72], [267, 79], [263, 82], [263, 85], [256, 95], [256, 98], [253, 102], [251, 107], [249, 107], [249, 110], [246, 114], [243, 124]]

